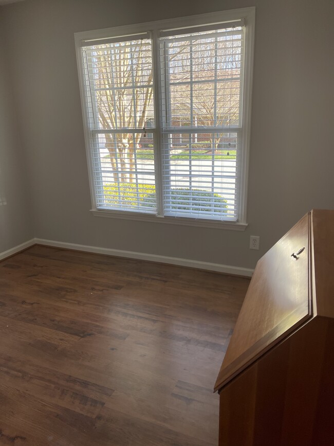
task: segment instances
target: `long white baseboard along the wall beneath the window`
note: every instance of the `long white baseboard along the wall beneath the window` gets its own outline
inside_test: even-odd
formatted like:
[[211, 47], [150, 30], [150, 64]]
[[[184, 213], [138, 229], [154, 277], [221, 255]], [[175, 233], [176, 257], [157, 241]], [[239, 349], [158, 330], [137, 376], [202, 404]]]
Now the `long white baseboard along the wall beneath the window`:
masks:
[[240, 266], [221, 265], [219, 263], [201, 262], [198, 260], [180, 259], [178, 257], [159, 256], [156, 254], [136, 253], [134, 251], [123, 251], [122, 249], [101, 248], [97, 246], [79, 245], [76, 243], [57, 242], [35, 238], [34, 243], [54, 246], [58, 248], [75, 249], [87, 253], [105, 254], [115, 257], [127, 257], [130, 259], [149, 260], [151, 262], [168, 263], [171, 265], [188, 266], [200, 270], [216, 271], [224, 274], [251, 277], [254, 270]]

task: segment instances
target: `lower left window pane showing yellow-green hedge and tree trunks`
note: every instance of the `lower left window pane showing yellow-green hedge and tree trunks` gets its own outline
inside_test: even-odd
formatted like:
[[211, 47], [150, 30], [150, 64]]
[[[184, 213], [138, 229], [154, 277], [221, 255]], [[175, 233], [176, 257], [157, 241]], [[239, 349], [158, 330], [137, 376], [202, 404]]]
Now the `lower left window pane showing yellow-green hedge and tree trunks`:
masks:
[[91, 146], [97, 206], [156, 213], [153, 144], [142, 133], [106, 133]]

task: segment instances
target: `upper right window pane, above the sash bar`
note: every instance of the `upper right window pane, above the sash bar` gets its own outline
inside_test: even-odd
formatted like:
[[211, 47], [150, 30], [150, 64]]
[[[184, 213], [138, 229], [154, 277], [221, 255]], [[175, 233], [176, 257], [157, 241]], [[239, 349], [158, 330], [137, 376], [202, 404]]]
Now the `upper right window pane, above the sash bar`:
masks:
[[241, 28], [161, 40], [165, 59], [166, 126], [180, 116], [191, 126], [239, 126], [243, 40]]

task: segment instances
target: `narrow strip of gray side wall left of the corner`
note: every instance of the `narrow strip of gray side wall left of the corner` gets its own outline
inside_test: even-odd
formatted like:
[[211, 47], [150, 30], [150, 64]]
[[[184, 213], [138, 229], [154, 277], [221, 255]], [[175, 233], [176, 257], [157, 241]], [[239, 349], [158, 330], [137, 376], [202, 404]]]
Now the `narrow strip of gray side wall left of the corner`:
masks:
[[11, 83], [0, 36], [0, 253], [33, 237], [31, 204]]

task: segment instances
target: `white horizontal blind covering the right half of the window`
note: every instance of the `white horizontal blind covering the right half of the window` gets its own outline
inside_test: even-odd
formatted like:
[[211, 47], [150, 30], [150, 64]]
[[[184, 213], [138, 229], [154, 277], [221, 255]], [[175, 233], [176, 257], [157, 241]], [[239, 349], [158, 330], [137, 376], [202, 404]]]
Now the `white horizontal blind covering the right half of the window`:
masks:
[[164, 214], [236, 221], [244, 30], [160, 38]]

